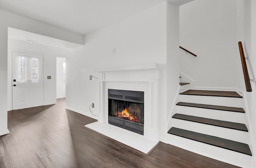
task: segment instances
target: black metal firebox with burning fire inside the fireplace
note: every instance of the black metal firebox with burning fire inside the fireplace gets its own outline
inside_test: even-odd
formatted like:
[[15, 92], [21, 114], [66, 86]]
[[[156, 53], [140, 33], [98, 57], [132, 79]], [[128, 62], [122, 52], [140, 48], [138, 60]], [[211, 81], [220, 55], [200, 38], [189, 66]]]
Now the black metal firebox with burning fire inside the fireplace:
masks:
[[144, 135], [144, 92], [108, 89], [108, 123]]

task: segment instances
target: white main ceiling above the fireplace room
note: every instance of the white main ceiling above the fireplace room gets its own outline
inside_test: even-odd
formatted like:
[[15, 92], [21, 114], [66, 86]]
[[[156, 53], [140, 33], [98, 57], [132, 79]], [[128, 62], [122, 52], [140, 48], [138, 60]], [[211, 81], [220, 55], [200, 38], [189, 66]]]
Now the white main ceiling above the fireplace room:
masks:
[[164, 1], [0, 0], [0, 8], [85, 35]]

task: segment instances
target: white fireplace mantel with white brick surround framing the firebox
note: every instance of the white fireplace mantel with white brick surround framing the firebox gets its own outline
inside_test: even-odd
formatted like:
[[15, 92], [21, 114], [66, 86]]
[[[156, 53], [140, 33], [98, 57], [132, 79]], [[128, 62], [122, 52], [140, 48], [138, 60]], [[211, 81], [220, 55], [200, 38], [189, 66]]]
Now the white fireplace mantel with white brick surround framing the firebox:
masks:
[[[152, 63], [95, 69], [102, 74], [100, 82], [101, 112], [98, 121], [107, 122], [108, 97], [107, 89], [144, 91], [146, 95], [146, 113], [144, 128], [146, 138], [158, 140], [158, 86], [161, 70], [164, 65]], [[145, 99], [145, 97], [144, 97]]]

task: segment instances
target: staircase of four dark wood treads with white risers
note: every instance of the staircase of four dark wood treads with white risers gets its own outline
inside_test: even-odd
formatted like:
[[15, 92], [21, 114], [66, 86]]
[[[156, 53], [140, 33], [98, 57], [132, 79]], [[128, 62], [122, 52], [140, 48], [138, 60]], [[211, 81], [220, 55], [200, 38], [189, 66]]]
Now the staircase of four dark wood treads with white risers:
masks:
[[180, 93], [168, 130], [175, 146], [250, 168], [250, 134], [243, 98], [234, 91], [187, 90]]

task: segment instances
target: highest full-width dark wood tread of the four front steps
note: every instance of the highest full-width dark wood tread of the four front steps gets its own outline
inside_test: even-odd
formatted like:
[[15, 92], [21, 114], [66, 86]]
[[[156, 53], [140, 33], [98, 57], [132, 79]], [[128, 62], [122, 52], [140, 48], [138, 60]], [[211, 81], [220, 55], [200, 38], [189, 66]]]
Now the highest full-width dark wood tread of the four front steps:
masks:
[[208, 90], [188, 90], [180, 95], [198, 95], [198, 96], [218, 96], [218, 97], [236, 97], [243, 98], [235, 91], [208, 91]]

